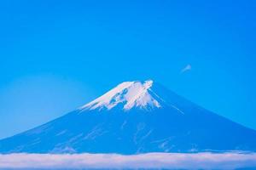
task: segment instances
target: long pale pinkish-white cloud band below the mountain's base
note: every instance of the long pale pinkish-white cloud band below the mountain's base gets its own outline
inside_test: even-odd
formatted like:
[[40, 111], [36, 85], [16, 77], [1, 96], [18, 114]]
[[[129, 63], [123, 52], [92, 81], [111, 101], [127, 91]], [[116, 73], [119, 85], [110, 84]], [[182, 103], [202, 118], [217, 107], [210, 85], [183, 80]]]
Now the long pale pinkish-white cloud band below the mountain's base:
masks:
[[9, 154], [0, 155], [1, 168], [187, 168], [256, 167], [256, 153]]

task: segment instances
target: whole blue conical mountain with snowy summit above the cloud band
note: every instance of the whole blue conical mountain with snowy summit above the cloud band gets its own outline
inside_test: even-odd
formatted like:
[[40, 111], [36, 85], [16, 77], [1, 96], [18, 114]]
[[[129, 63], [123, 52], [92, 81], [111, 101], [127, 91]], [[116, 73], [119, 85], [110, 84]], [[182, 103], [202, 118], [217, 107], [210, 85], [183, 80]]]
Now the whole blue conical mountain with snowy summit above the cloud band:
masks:
[[256, 131], [151, 80], [123, 82], [79, 109], [0, 140], [0, 153], [256, 150]]

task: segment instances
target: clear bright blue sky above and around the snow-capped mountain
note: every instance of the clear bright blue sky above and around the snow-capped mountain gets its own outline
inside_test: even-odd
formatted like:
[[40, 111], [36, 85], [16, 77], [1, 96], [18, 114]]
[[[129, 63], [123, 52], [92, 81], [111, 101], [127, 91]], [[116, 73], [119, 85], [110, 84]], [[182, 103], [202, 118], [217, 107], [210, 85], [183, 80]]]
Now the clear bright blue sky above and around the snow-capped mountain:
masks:
[[148, 78], [256, 129], [255, 8], [253, 0], [1, 1], [0, 138]]

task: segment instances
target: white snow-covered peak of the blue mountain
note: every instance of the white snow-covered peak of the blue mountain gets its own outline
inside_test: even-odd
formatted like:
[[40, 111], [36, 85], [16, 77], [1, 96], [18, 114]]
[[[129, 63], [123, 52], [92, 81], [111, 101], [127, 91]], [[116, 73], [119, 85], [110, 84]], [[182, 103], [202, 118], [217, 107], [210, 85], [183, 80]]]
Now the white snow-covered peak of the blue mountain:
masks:
[[154, 94], [152, 80], [144, 82], [122, 82], [117, 87], [103, 94], [101, 97], [82, 106], [85, 110], [111, 110], [115, 106], [121, 106], [125, 111], [132, 108], [151, 110], [160, 108], [162, 100]]

